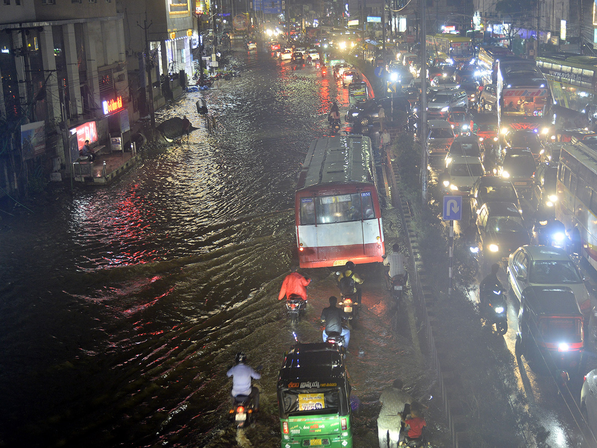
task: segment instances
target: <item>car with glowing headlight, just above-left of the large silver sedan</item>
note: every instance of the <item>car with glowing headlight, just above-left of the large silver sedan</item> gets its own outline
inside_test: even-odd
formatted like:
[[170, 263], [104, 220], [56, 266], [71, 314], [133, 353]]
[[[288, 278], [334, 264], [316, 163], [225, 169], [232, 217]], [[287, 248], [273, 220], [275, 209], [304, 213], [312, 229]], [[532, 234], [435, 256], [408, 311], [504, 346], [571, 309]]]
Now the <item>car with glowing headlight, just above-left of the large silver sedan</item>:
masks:
[[485, 265], [507, 262], [512, 251], [531, 241], [522, 214], [512, 202], [485, 202], [477, 212], [477, 227]]

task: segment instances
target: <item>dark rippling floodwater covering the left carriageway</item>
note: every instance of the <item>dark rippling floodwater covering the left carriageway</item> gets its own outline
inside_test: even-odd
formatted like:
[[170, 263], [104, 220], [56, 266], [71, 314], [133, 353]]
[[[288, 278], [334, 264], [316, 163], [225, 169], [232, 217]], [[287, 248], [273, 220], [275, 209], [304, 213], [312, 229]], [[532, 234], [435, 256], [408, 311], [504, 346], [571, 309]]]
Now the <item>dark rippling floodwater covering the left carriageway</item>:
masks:
[[[294, 253], [294, 188], [331, 100], [346, 106], [347, 93], [314, 68], [235, 56], [241, 78], [158, 113], [189, 116], [200, 129], [188, 144], [148, 152], [106, 188], [66, 188], [2, 216], [0, 446], [232, 446], [225, 372], [240, 350], [264, 366], [260, 446], [279, 446], [275, 382], [293, 336], [277, 293]], [[216, 134], [194, 113], [199, 97]], [[399, 220], [384, 219], [390, 247]], [[381, 389], [397, 376], [417, 398], [430, 386], [416, 328], [392, 314], [377, 266], [363, 274], [347, 363], [355, 446], [374, 446]], [[317, 342], [337, 291], [330, 271], [306, 275], [313, 296], [296, 332]]]

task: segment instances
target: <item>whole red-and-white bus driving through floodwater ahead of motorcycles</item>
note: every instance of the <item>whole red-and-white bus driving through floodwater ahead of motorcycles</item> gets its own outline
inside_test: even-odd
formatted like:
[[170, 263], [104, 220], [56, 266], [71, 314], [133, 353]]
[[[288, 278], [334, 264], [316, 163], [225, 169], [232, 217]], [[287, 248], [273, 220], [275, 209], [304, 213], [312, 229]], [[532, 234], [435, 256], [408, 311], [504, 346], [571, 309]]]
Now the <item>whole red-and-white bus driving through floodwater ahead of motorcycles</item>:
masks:
[[315, 139], [295, 197], [301, 268], [383, 261], [376, 167], [367, 136]]

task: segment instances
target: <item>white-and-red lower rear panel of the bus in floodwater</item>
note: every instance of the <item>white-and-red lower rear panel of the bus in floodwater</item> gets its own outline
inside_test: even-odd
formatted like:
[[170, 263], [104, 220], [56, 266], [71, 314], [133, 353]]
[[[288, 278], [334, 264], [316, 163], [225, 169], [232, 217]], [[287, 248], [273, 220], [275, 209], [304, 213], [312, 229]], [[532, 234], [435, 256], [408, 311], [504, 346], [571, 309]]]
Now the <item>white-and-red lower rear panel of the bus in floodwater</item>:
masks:
[[302, 244], [298, 250], [301, 268], [344, 265], [347, 260], [381, 262], [385, 254], [381, 218], [297, 226], [297, 243]]

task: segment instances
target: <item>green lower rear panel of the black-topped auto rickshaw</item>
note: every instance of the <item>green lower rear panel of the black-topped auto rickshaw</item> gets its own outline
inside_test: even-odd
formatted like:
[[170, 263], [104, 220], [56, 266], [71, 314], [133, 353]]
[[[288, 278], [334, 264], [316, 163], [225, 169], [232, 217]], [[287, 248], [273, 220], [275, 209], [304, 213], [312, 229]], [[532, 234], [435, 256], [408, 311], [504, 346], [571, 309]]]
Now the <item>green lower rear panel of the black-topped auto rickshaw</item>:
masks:
[[[346, 429], [341, 429], [341, 420], [346, 419]], [[284, 434], [283, 422], [288, 422], [288, 432]], [[324, 446], [326, 448], [352, 447], [350, 416], [309, 415], [291, 416], [281, 419], [282, 447]], [[321, 442], [319, 442], [321, 440]]]

